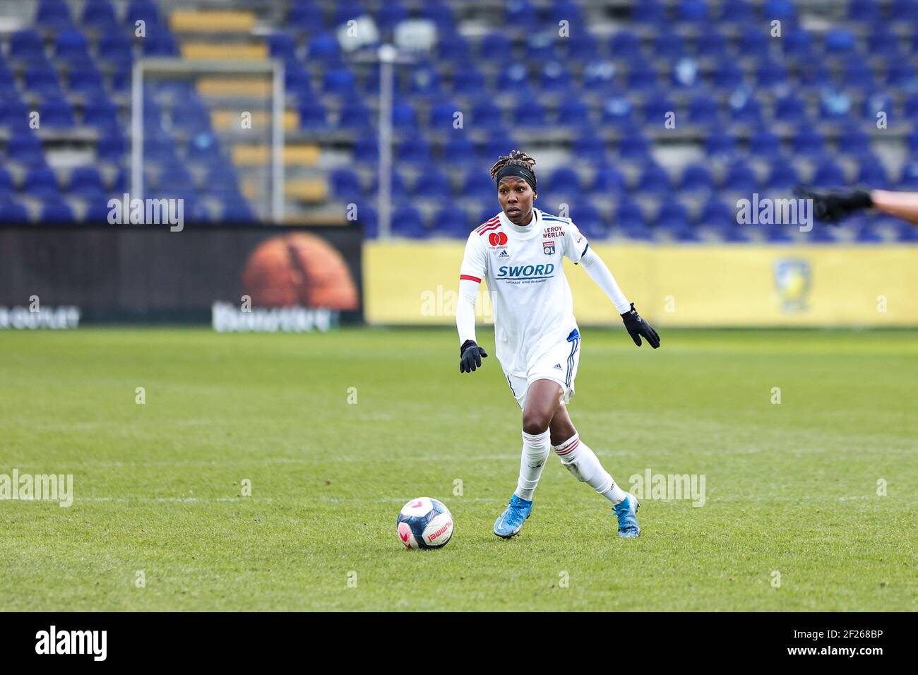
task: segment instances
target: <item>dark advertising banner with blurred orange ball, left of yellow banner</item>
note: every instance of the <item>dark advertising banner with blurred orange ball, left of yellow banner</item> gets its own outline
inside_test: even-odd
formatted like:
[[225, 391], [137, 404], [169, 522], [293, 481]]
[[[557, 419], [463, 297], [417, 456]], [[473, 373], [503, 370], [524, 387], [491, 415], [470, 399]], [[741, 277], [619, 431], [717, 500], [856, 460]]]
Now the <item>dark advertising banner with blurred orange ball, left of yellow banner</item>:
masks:
[[218, 331], [363, 320], [359, 227], [0, 228], [0, 330], [109, 321]]

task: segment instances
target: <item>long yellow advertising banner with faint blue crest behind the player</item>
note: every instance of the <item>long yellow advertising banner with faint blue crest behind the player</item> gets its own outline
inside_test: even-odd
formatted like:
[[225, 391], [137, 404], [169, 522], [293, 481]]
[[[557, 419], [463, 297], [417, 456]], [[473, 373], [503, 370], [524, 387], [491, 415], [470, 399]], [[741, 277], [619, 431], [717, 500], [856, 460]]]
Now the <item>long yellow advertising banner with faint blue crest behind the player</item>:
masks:
[[[465, 242], [365, 242], [372, 324], [452, 324]], [[625, 295], [660, 326], [918, 326], [918, 246], [591, 244]], [[583, 325], [618, 323], [565, 260]], [[476, 304], [490, 322], [487, 291]]]

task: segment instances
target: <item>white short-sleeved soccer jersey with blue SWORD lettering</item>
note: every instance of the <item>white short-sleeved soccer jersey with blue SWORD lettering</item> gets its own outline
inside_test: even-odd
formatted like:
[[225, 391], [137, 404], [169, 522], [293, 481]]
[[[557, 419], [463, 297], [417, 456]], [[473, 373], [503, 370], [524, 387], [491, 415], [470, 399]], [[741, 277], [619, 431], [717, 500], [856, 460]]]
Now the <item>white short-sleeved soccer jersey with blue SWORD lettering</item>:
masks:
[[526, 377], [540, 356], [577, 329], [562, 261], [566, 255], [579, 263], [587, 248], [571, 219], [538, 208], [529, 225], [515, 225], [501, 211], [469, 234], [460, 278], [487, 278], [496, 355], [509, 375]]

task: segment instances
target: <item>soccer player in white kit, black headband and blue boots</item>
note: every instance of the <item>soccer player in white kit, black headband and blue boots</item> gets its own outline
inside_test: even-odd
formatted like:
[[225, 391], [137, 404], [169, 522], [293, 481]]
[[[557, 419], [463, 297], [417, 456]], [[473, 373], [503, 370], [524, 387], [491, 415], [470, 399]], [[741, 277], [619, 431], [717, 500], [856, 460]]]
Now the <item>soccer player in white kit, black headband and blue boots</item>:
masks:
[[580, 360], [580, 332], [563, 256], [583, 264], [621, 313], [636, 345], [641, 346], [644, 337], [656, 349], [660, 337], [629, 304], [609, 267], [589, 248], [573, 221], [532, 208], [537, 197], [534, 165], [525, 152], [513, 151], [491, 167], [501, 211], [469, 235], [459, 276], [459, 371], [474, 372], [487, 356], [475, 342], [475, 298], [478, 285], [487, 278], [498, 361], [522, 409], [520, 478], [494, 523], [494, 534], [509, 538], [520, 532], [532, 512], [532, 493], [545, 460], [554, 450], [574, 476], [612, 502], [619, 536], [638, 536], [640, 504], [616, 485], [567, 415], [565, 403], [574, 395]]

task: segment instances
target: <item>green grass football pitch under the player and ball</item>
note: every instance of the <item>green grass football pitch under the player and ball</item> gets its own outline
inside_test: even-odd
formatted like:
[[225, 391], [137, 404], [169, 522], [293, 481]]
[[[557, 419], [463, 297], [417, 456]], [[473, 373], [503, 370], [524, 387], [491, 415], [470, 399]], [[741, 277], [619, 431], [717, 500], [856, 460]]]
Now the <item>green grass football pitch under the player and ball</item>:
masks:
[[[706, 478], [636, 540], [555, 456], [491, 533], [520, 412], [450, 330], [0, 333], [0, 474], [74, 492], [0, 501], [3, 609], [918, 609], [918, 332], [583, 333], [571, 416], [612, 476]], [[397, 539], [418, 496], [453, 512], [442, 550]]]

